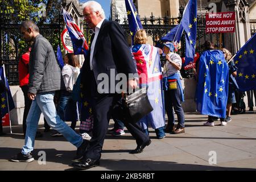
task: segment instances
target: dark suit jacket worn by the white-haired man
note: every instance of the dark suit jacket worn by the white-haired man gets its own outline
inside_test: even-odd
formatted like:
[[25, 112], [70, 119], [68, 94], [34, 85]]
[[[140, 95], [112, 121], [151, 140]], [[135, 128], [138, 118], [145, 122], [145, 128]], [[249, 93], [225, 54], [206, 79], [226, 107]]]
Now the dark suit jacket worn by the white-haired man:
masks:
[[[93, 38], [94, 34], [92, 35], [91, 43]], [[101, 82], [101, 80], [97, 80], [98, 75], [106, 73], [109, 77], [108, 90], [110, 93], [110, 84], [113, 88], [113, 84], [118, 82], [113, 81], [115, 77], [112, 77], [112, 81], [110, 81], [110, 69], [114, 69], [115, 76], [117, 73], [125, 73], [127, 78], [129, 78], [129, 73], [137, 73], [123, 28], [117, 22], [104, 20], [94, 47], [93, 72], [90, 71], [90, 53], [86, 55], [82, 66], [81, 80], [85, 92], [90, 92], [89, 89], [93, 86], [91, 85], [93, 76], [96, 85], [98, 85]]]

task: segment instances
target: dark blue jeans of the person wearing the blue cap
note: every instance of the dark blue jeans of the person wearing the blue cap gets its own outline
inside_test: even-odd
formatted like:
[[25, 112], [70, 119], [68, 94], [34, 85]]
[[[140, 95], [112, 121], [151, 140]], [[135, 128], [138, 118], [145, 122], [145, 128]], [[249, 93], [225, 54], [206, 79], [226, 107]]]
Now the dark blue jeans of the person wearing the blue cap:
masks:
[[[178, 124], [184, 127], [185, 116], [181, 106], [180, 89], [172, 89], [164, 91], [164, 105], [166, 107], [166, 113], [168, 116], [168, 126], [174, 125], [174, 110], [177, 114]], [[174, 109], [172, 109], [174, 107]]]

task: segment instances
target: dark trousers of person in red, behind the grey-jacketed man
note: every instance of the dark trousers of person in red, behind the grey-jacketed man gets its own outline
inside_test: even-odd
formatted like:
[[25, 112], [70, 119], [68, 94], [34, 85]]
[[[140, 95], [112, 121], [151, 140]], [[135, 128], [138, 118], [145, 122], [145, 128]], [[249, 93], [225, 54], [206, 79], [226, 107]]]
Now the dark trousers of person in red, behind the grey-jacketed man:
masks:
[[[23, 133], [26, 135], [26, 130], [27, 130], [27, 115], [28, 111], [30, 111], [30, 106], [32, 104], [32, 100], [30, 100], [27, 96], [28, 93], [28, 85], [24, 85], [20, 87], [22, 89], [23, 95], [24, 95], [24, 101], [25, 101], [25, 107], [24, 107], [24, 114], [23, 114], [23, 121], [22, 121], [22, 127], [23, 127]], [[47, 124], [46, 119], [44, 118], [44, 128], [49, 129], [50, 126]]]

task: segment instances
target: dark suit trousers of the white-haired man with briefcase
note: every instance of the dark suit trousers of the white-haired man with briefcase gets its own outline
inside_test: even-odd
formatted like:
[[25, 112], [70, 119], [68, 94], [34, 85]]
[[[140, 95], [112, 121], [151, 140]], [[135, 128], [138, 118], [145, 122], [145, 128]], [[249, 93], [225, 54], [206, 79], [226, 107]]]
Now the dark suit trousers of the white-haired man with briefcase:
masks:
[[[101, 151], [104, 144], [106, 132], [108, 131], [109, 120], [112, 116], [112, 108], [115, 101], [118, 100], [116, 94], [97, 94], [97, 85], [95, 79], [92, 79], [92, 96], [93, 107], [93, 137], [90, 140], [89, 148], [85, 152], [85, 157], [90, 159], [100, 159]], [[141, 145], [149, 140], [148, 135], [143, 133], [138, 124], [124, 122], [127, 130], [136, 139], [137, 145]]]

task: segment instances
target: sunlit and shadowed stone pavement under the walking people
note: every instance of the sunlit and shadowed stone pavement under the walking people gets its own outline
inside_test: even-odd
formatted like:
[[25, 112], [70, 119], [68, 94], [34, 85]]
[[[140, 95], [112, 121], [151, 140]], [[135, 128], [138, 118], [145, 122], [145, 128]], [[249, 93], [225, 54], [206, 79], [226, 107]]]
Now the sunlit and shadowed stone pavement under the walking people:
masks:
[[[220, 121], [216, 121], [214, 127], [203, 126], [207, 116], [197, 113], [186, 113], [185, 119], [184, 134], [167, 134], [159, 140], [150, 129], [152, 143], [141, 154], [129, 154], [136, 143], [127, 130], [121, 137], [107, 135], [101, 166], [89, 170], [256, 169], [256, 111], [232, 115], [227, 126], [220, 126]], [[110, 121], [109, 129], [112, 127], [113, 121]], [[36, 160], [31, 163], [9, 162], [24, 144], [22, 126], [14, 126], [13, 134], [0, 137], [0, 170], [74, 170], [70, 164], [76, 147], [64, 137], [51, 137], [53, 131], [44, 133], [42, 125], [39, 130], [44, 136], [36, 138], [33, 152]], [[4, 131], [9, 133], [9, 127]], [[39, 151], [46, 152], [46, 164], [39, 164]], [[214, 162], [215, 154], [217, 164], [209, 164], [209, 158]]]

